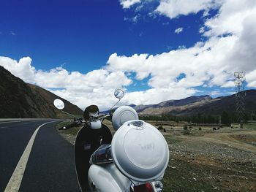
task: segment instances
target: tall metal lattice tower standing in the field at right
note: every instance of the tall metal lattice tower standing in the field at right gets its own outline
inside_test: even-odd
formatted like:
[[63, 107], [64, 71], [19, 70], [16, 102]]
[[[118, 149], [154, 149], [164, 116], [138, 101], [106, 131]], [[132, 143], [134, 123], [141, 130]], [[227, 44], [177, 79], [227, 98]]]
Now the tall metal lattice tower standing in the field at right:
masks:
[[243, 128], [244, 116], [245, 116], [245, 96], [244, 82], [245, 82], [245, 72], [235, 72], [234, 81], [236, 85], [236, 112], [238, 115], [238, 123], [240, 127]]

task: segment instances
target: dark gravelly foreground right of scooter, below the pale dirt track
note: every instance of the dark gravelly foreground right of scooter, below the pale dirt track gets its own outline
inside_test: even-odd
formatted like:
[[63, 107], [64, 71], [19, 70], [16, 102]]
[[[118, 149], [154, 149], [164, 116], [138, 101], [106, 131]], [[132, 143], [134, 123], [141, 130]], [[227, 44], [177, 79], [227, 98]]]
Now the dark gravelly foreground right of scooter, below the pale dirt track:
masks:
[[255, 153], [197, 137], [165, 135], [165, 191], [256, 191]]

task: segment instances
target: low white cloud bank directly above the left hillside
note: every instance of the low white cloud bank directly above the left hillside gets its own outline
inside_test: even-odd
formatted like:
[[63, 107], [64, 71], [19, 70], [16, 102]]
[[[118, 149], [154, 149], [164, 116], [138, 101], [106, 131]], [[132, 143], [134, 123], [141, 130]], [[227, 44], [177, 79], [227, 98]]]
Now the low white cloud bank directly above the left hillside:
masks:
[[0, 65], [15, 76], [25, 82], [47, 88], [48, 91], [56, 93], [83, 109], [90, 104], [98, 104], [101, 110], [108, 109], [116, 102], [113, 91], [116, 88], [124, 88], [132, 82], [124, 72], [97, 69], [82, 74], [68, 72], [62, 67], [42, 71], [35, 69], [31, 61], [29, 57], [21, 58], [19, 61], [0, 57]]

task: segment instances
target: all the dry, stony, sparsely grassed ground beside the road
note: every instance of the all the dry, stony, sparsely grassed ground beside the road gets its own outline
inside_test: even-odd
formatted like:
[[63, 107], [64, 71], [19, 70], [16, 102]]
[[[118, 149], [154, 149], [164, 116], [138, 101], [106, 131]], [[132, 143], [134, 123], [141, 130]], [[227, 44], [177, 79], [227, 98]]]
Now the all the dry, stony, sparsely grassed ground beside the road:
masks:
[[[105, 122], [113, 131], [111, 123]], [[156, 122], [149, 122], [156, 125]], [[164, 191], [256, 191], [256, 124], [249, 128], [163, 125], [170, 161]], [[75, 133], [59, 131], [74, 143]], [[201, 129], [201, 130], [199, 130]]]

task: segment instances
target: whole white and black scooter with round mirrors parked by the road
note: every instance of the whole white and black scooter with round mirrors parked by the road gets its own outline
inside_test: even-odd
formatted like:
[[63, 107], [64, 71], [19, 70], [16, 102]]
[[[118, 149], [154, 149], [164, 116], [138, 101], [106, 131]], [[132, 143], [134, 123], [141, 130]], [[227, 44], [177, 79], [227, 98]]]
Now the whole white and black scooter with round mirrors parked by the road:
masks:
[[[114, 96], [118, 104], [124, 91], [117, 89]], [[57, 99], [54, 105], [64, 112], [63, 101]], [[80, 190], [162, 191], [161, 180], [169, 161], [165, 138], [157, 128], [139, 120], [132, 107], [121, 106], [112, 113], [113, 107], [105, 115], [99, 114], [96, 105], [84, 110], [85, 126], [78, 131], [74, 154]], [[110, 128], [103, 123], [106, 118], [112, 121], [116, 131], [113, 137]]]

